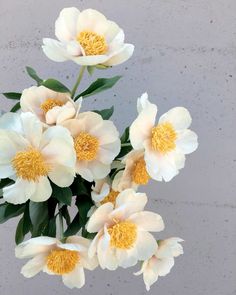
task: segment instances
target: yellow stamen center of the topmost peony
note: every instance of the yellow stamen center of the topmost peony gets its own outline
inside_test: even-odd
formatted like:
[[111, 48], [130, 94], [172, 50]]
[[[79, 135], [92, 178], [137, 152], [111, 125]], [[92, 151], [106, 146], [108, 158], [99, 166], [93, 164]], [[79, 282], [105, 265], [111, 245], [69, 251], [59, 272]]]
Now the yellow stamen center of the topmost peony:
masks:
[[85, 55], [102, 55], [108, 51], [105, 38], [91, 31], [79, 33], [77, 41], [83, 47]]

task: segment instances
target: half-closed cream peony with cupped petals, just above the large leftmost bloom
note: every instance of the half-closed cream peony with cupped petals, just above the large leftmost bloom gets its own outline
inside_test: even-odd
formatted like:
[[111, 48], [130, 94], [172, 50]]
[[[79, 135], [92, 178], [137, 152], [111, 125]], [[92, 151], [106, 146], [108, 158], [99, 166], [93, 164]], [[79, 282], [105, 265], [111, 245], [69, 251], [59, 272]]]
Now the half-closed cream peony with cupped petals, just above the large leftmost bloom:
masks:
[[76, 117], [82, 100], [76, 103], [67, 93], [59, 93], [44, 86], [32, 86], [22, 92], [20, 105], [23, 112], [32, 112], [48, 125], [61, 124]]

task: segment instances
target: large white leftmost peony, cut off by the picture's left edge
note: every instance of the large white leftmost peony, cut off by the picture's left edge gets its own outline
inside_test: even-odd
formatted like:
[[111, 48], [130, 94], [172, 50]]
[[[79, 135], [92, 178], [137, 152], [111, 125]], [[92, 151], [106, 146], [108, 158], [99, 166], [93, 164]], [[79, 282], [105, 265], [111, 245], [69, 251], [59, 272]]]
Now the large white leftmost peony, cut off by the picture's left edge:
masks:
[[49, 179], [60, 187], [74, 180], [76, 155], [70, 133], [61, 126], [43, 131], [32, 113], [0, 118], [0, 150], [0, 178], [15, 180], [3, 188], [9, 203], [46, 201], [52, 194]]

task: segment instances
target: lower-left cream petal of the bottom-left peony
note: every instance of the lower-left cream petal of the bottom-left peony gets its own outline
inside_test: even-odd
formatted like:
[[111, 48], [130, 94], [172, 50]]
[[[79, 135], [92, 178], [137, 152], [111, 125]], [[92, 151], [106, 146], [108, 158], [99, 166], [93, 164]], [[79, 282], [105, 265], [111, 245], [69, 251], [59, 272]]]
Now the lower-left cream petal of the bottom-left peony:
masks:
[[25, 278], [32, 278], [37, 275], [40, 271], [43, 270], [43, 267], [46, 263], [46, 255], [39, 254], [33, 259], [28, 261], [21, 269], [21, 274]]

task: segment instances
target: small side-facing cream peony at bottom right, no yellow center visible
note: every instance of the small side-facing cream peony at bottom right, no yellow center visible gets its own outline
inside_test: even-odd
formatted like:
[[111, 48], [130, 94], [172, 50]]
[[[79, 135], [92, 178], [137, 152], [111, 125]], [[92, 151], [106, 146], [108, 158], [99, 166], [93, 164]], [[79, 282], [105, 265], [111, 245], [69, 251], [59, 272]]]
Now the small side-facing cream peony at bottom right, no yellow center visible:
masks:
[[166, 276], [174, 266], [174, 257], [183, 254], [183, 247], [179, 244], [183, 242], [180, 238], [170, 238], [158, 242], [155, 254], [143, 262], [142, 268], [135, 275], [143, 274], [143, 280], [147, 291], [150, 290], [158, 277]]

